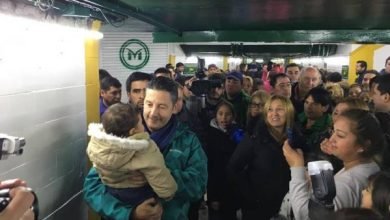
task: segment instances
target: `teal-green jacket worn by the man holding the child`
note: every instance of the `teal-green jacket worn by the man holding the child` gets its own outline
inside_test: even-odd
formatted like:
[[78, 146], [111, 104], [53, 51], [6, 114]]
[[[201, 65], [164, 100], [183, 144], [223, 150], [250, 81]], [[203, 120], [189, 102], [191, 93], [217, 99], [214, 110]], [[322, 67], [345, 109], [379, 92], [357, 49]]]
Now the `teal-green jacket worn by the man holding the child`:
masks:
[[[178, 190], [172, 200], [163, 202], [162, 219], [185, 220], [190, 202], [199, 200], [205, 193], [207, 157], [196, 135], [180, 122], [163, 155]], [[128, 220], [134, 208], [106, 191], [95, 168], [91, 168], [85, 179], [84, 199], [90, 208], [108, 219]]]

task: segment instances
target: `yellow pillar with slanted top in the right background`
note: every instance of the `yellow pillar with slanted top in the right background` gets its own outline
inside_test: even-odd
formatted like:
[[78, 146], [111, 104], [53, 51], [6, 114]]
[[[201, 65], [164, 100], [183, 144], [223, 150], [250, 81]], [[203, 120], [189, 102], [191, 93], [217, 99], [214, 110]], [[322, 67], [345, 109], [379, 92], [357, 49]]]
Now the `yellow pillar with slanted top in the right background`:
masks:
[[367, 62], [367, 69], [372, 69], [374, 65], [374, 52], [375, 50], [381, 47], [383, 47], [383, 45], [381, 44], [362, 45], [349, 54], [349, 70], [348, 70], [349, 84], [355, 83], [356, 62], [358, 60], [364, 60]]

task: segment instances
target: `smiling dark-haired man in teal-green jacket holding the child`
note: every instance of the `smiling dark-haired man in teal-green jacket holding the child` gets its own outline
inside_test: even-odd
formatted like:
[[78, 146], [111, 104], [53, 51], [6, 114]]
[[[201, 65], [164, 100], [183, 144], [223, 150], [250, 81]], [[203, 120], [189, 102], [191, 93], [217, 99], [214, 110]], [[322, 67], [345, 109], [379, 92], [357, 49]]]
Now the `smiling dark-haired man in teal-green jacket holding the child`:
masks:
[[190, 202], [199, 200], [205, 193], [207, 158], [196, 135], [173, 115], [177, 91], [173, 80], [165, 77], [153, 79], [146, 90], [143, 110], [145, 129], [160, 148], [177, 183], [175, 196], [161, 203], [151, 198], [132, 207], [109, 194], [95, 168], [91, 168], [84, 182], [84, 199], [102, 217], [185, 220]]

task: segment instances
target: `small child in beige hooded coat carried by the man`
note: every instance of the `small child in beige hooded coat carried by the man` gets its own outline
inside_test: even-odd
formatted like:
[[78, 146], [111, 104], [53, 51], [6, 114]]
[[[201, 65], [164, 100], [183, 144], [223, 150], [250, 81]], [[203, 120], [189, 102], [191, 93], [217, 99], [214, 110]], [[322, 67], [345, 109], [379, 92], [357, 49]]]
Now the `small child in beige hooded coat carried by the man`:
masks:
[[138, 205], [155, 197], [169, 200], [177, 185], [163, 155], [144, 132], [141, 115], [132, 104], [117, 103], [90, 124], [87, 154], [107, 191], [124, 203]]

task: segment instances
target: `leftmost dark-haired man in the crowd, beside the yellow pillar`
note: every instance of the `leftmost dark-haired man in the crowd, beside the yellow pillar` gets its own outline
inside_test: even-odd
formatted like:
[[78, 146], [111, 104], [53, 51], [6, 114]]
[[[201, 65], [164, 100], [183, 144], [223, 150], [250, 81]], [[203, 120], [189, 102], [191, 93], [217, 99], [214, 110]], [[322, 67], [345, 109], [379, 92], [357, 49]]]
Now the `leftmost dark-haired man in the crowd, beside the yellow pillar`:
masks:
[[121, 101], [122, 84], [114, 77], [105, 77], [100, 83], [100, 117], [106, 109]]

